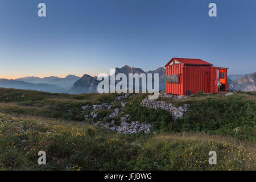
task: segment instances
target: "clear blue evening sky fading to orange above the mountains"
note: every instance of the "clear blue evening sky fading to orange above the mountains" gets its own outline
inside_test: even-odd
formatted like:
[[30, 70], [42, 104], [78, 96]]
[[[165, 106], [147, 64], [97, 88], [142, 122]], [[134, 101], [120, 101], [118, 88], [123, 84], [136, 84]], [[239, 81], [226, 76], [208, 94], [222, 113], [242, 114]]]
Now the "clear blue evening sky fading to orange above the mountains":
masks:
[[255, 12], [255, 0], [1, 0], [0, 78], [96, 76], [123, 65], [149, 71], [172, 57], [251, 73]]

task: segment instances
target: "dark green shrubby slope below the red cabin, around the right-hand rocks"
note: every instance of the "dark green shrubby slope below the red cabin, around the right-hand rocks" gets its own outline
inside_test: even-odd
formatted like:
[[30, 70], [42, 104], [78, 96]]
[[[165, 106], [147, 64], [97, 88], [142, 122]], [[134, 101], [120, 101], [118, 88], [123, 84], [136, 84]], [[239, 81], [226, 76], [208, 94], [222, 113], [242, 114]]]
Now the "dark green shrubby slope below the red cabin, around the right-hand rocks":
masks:
[[[191, 104], [187, 114], [181, 119], [172, 119], [171, 114], [162, 109], [148, 109], [139, 105], [145, 96], [134, 97], [126, 106], [133, 120], [147, 121], [156, 130], [168, 133], [198, 132], [224, 135], [237, 139], [255, 141], [255, 101], [242, 95], [224, 94], [205, 96], [199, 93], [185, 101]], [[168, 101], [168, 98], [165, 98]], [[173, 102], [173, 100], [170, 100]]]

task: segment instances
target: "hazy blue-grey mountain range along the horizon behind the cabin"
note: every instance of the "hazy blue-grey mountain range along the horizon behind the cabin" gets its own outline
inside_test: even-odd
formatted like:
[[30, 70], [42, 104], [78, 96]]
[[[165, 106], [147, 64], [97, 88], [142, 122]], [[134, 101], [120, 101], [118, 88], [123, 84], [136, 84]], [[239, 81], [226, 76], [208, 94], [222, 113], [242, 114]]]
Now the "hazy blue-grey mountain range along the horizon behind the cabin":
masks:
[[[159, 90], [165, 90], [165, 68], [160, 67], [153, 71], [143, 71], [141, 68], [134, 68], [125, 65], [122, 68], [115, 68], [115, 74], [125, 73], [128, 78], [129, 73], [159, 73]], [[154, 85], [154, 76], [152, 76]], [[49, 76], [44, 78], [29, 76], [17, 78], [16, 80], [0, 79], [0, 87], [38, 90], [53, 93], [94, 93], [97, 92], [97, 85], [100, 81], [97, 76], [84, 75], [81, 78], [75, 75], [68, 75], [64, 78]], [[119, 80], [115, 81], [117, 84]], [[242, 91], [255, 91], [256, 72], [247, 75], [228, 75], [229, 89]], [[127, 85], [128, 88], [128, 85]], [[141, 86], [140, 86], [141, 88]]]

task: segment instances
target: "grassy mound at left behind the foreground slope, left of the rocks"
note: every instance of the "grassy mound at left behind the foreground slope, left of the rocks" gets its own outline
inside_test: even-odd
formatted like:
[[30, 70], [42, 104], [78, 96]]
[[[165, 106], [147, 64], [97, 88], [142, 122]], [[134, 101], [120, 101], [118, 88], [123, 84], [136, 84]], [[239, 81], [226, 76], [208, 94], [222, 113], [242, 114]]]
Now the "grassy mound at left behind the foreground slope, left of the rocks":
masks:
[[0, 109], [7, 113], [82, 121], [86, 114], [81, 110], [82, 105], [110, 104], [117, 96], [95, 93], [69, 95], [0, 88]]

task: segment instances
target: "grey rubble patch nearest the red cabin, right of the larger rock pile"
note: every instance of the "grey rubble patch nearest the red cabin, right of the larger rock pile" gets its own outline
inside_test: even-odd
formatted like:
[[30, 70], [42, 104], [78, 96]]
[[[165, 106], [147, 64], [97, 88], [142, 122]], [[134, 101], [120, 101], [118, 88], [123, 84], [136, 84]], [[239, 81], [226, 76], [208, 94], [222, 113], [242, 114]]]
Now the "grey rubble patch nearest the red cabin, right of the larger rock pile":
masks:
[[152, 109], [164, 109], [167, 110], [172, 114], [174, 119], [183, 118], [185, 112], [189, 109], [189, 104], [184, 104], [180, 107], [175, 107], [172, 103], [167, 103], [164, 101], [157, 101], [157, 100], [148, 100], [145, 98], [141, 102], [141, 106], [152, 108]]

